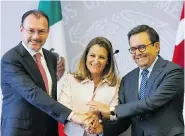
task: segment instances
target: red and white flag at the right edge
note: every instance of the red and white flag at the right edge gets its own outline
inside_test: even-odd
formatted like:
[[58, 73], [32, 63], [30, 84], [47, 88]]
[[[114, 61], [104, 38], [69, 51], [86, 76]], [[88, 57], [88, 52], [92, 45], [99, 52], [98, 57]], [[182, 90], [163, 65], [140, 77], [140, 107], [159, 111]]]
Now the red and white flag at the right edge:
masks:
[[184, 5], [182, 7], [182, 13], [180, 18], [179, 27], [177, 30], [176, 40], [175, 40], [175, 50], [173, 54], [172, 61], [176, 64], [179, 64], [184, 68], [184, 39], [185, 39], [185, 19], [184, 19]]

